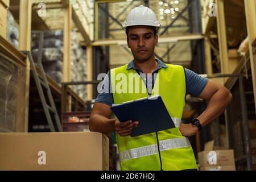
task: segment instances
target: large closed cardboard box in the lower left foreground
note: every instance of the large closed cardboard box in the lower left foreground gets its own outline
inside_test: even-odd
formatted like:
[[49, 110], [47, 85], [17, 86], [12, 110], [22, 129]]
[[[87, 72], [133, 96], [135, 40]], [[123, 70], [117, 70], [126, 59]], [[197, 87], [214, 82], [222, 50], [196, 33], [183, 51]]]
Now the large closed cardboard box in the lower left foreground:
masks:
[[109, 139], [101, 133], [0, 133], [0, 170], [108, 169]]

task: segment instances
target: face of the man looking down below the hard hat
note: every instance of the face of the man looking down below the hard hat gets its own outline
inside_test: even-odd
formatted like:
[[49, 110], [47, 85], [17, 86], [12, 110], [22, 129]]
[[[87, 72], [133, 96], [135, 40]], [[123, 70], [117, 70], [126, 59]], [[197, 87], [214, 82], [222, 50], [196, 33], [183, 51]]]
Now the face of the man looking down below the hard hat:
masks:
[[133, 53], [134, 59], [139, 62], [155, 57], [155, 46], [158, 44], [158, 35], [148, 26], [130, 27], [127, 35], [127, 44]]

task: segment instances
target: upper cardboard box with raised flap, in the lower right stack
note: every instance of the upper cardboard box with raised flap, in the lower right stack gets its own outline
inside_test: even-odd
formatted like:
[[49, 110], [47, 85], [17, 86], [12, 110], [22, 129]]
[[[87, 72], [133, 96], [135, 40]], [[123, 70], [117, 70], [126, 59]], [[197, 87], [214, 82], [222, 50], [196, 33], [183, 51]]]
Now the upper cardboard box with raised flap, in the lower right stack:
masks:
[[218, 150], [214, 141], [205, 143], [204, 151], [198, 153], [201, 167], [235, 166], [233, 150]]

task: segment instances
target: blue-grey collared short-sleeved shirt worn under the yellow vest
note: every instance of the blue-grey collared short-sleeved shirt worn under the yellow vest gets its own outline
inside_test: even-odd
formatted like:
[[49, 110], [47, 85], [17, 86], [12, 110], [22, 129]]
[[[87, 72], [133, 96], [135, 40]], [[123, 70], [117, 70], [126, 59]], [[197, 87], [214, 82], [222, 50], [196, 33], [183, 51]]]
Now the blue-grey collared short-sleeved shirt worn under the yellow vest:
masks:
[[[159, 69], [167, 68], [167, 65], [163, 63], [161, 60], [158, 61], [158, 68], [153, 73], [158, 73]], [[127, 69], [135, 69], [139, 75], [141, 75], [142, 71], [140, 71], [137, 67], [135, 67], [134, 62], [131, 61], [127, 65]], [[154, 74], [152, 74], [154, 75]], [[208, 83], [208, 78], [201, 77], [197, 75], [195, 72], [185, 68], [185, 77], [186, 77], [186, 95], [190, 94], [191, 96], [198, 97], [201, 92], [203, 92], [205, 86]], [[110, 71], [107, 76], [104, 78], [102, 84], [101, 93], [98, 94], [95, 102], [101, 102], [107, 105], [112, 106], [114, 104], [112, 93], [110, 92]], [[143, 81], [147, 82], [147, 79], [143, 79]], [[154, 86], [155, 77], [152, 77], [152, 85]]]

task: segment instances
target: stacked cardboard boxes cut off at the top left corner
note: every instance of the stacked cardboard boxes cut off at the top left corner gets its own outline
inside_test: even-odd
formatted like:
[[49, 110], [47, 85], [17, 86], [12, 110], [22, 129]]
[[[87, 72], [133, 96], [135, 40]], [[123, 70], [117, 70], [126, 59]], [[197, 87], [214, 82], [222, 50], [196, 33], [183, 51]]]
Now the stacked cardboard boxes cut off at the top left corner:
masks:
[[0, 36], [3, 38], [6, 38], [7, 8], [9, 5], [9, 0], [0, 0]]

